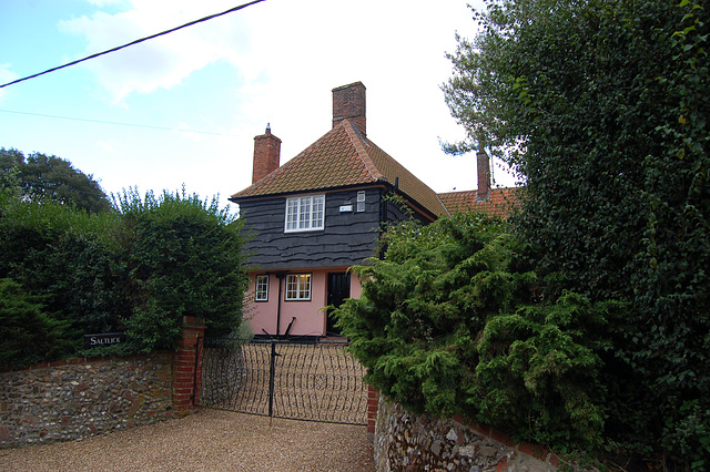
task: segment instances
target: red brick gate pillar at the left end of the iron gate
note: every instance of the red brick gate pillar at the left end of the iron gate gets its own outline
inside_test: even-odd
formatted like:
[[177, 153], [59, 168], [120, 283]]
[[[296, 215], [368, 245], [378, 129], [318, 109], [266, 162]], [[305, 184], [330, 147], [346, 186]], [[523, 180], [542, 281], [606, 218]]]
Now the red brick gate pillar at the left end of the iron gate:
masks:
[[173, 353], [173, 415], [182, 417], [197, 409], [200, 366], [205, 326], [195, 317], [183, 317], [182, 339]]

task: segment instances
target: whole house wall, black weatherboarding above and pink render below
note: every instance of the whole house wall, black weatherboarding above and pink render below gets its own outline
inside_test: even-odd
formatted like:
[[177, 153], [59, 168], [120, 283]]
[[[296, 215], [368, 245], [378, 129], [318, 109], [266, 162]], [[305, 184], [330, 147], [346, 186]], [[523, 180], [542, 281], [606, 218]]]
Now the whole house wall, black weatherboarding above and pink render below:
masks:
[[[256, 275], [270, 274], [268, 300], [250, 301], [246, 306], [245, 316], [255, 335], [264, 335], [264, 331], [272, 336], [283, 335], [293, 317], [296, 319], [291, 335], [325, 335], [326, 314], [323, 308], [327, 305], [327, 274], [365, 264], [366, 258], [376, 255], [381, 222], [409, 217], [397, 203], [385, 203], [383, 192], [385, 188], [382, 187], [365, 189], [364, 212], [356, 211], [358, 188], [327, 193], [325, 228], [315, 232], [285, 233], [286, 197], [240, 203], [240, 215], [251, 236], [245, 246], [251, 254], [248, 264], [252, 267], [248, 300], [253, 300]], [[341, 212], [343, 205], [352, 205], [353, 211]], [[415, 215], [415, 218], [420, 219], [420, 215]], [[286, 301], [284, 279], [280, 307], [276, 274], [304, 273], [313, 275], [311, 300]], [[358, 298], [361, 294], [359, 280], [351, 277], [351, 297]]]

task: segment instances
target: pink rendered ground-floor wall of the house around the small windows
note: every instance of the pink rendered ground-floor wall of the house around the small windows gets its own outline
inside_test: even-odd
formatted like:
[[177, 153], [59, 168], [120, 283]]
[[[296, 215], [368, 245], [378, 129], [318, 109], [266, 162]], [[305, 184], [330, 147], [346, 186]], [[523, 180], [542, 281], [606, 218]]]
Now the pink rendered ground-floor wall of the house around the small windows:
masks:
[[[300, 274], [312, 274], [311, 300], [310, 301], [286, 301], [284, 293], [286, 280], [282, 281], [281, 301], [281, 326], [280, 334], [286, 332], [286, 328], [295, 316], [296, 320], [291, 328], [291, 335], [295, 336], [323, 336], [325, 335], [325, 310], [327, 274], [333, 270], [303, 270]], [[296, 274], [293, 271], [292, 274]], [[250, 319], [250, 325], [255, 335], [263, 335], [265, 329], [270, 335], [276, 334], [276, 316], [278, 312], [278, 278], [270, 275], [268, 301], [253, 301], [256, 274], [250, 276], [250, 287], [247, 299], [252, 300], [245, 307], [245, 317]], [[356, 276], [351, 277], [351, 297], [357, 298], [363, 289]]]

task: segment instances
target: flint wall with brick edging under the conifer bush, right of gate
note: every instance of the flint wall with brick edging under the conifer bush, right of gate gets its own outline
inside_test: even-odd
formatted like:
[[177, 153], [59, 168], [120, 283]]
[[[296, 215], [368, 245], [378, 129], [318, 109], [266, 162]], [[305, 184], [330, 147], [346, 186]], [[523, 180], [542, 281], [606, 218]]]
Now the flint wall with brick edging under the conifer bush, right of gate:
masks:
[[516, 444], [490, 428], [463, 418], [409, 413], [379, 399], [375, 466], [389, 471], [556, 471], [559, 459], [536, 444]]

